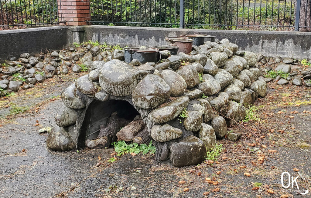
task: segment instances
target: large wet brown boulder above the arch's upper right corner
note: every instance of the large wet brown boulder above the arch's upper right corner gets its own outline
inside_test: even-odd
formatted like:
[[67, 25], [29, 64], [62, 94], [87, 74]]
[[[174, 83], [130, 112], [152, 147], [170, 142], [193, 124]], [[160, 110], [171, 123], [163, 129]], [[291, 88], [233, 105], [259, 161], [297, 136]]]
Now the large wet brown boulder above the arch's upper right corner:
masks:
[[134, 105], [143, 109], [154, 109], [170, 96], [169, 85], [158, 75], [146, 75], [135, 87], [132, 94]]

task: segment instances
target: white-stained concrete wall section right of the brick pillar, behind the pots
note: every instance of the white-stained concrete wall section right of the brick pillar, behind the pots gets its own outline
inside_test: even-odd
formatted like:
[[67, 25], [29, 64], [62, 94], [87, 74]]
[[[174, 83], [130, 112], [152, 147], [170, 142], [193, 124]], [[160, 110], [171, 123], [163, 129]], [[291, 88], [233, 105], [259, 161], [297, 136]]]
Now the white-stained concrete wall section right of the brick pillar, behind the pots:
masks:
[[311, 58], [311, 32], [270, 32], [241, 30], [203, 30], [90, 25], [85, 27], [85, 40], [123, 45], [163, 45], [165, 37], [201, 32], [228, 38], [240, 49], [266, 56]]

